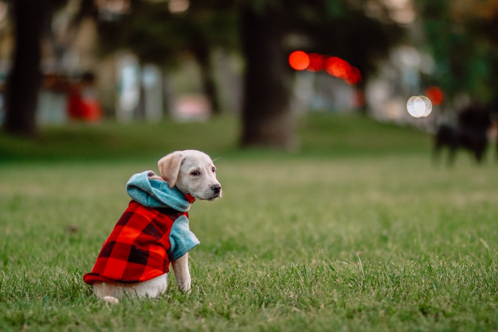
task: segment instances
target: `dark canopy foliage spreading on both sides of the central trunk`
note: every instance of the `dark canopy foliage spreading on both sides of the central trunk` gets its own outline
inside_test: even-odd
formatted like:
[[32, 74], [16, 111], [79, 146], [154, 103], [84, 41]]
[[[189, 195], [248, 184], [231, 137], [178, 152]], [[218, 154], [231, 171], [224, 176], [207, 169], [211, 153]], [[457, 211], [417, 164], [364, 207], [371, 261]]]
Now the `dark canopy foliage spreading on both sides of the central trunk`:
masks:
[[[165, 2], [132, 0], [131, 10], [118, 20], [100, 21], [102, 50], [128, 47], [145, 62], [172, 65], [199, 48], [222, 47], [239, 51], [240, 13], [245, 8], [259, 15], [278, 15], [287, 34], [308, 38], [305, 49], [348, 59], [373, 73], [402, 29], [379, 22], [347, 0], [209, 0], [191, 1], [183, 13], [171, 13]], [[279, 41], [276, 41], [279, 42]], [[290, 49], [289, 49], [290, 51]]]

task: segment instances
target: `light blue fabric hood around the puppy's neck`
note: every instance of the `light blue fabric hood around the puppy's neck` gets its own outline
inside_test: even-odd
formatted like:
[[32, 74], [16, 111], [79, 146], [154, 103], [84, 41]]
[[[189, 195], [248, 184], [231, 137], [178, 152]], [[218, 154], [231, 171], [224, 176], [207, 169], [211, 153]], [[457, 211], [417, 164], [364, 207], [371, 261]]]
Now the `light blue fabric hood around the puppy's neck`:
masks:
[[164, 180], [149, 179], [156, 176], [152, 171], [134, 174], [126, 183], [126, 192], [136, 202], [148, 208], [172, 208], [187, 212], [190, 203], [176, 188], [169, 188]]

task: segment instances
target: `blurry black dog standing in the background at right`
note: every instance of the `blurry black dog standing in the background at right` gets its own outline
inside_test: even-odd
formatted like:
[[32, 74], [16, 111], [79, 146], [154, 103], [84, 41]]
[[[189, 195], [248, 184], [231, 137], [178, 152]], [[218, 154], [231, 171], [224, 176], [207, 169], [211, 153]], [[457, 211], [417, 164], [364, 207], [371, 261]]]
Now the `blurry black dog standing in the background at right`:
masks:
[[480, 106], [470, 106], [458, 114], [457, 126], [443, 124], [434, 135], [434, 159], [444, 147], [449, 148], [448, 164], [453, 165], [458, 149], [470, 151], [475, 160], [481, 163], [488, 147], [488, 131], [491, 127], [490, 110]]

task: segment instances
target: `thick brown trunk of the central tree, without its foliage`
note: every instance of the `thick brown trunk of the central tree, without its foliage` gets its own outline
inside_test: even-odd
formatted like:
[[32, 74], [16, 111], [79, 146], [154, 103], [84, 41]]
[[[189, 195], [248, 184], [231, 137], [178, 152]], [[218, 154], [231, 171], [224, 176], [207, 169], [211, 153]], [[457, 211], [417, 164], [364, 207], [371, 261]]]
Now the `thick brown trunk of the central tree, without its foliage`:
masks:
[[284, 26], [277, 10], [242, 12], [242, 42], [246, 59], [243, 146], [292, 149], [295, 146], [290, 111], [290, 70], [283, 47]]

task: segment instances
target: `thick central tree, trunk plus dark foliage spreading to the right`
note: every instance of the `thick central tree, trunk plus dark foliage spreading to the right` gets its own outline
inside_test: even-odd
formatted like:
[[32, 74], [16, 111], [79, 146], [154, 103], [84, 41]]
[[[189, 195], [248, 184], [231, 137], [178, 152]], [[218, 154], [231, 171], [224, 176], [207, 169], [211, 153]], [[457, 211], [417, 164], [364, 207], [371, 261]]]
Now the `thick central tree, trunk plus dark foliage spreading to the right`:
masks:
[[399, 28], [389, 29], [349, 6], [347, 0], [240, 1], [241, 43], [246, 60], [243, 146], [295, 146], [290, 109], [292, 76], [286, 43], [291, 35], [305, 40], [311, 52], [341, 56], [358, 66], [364, 77], [373, 73], [375, 60], [385, 56], [399, 39]]

